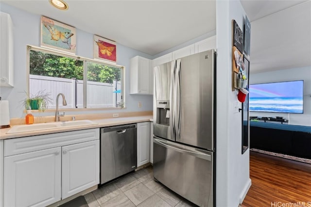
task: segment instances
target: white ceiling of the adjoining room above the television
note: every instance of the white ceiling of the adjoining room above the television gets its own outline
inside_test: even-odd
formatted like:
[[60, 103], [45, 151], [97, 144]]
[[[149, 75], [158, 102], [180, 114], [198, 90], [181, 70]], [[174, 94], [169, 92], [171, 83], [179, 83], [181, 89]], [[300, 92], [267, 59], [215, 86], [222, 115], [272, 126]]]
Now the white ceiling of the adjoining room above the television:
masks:
[[[257, 12], [248, 15], [246, 11], [250, 19], [261, 17], [260, 11], [264, 11], [262, 15], [267, 10], [278, 12], [251, 22], [250, 72], [311, 68], [311, 1], [264, 1], [266, 4], [262, 5], [261, 1], [251, 2], [254, 4], [250, 11]], [[269, 7], [275, 3], [278, 9]], [[279, 11], [294, 3], [296, 5]], [[249, 8], [250, 2], [242, 4]]]

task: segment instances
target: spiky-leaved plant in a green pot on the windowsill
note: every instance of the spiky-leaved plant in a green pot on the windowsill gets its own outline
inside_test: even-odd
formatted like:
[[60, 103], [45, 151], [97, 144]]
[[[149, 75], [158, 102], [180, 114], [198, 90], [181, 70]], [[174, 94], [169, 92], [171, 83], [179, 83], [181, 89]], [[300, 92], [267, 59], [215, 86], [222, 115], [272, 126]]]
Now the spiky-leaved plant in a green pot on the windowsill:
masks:
[[52, 104], [52, 98], [50, 97], [50, 93], [46, 93], [45, 91], [38, 91], [35, 95], [28, 96], [23, 101], [25, 110], [45, 111], [50, 104]]

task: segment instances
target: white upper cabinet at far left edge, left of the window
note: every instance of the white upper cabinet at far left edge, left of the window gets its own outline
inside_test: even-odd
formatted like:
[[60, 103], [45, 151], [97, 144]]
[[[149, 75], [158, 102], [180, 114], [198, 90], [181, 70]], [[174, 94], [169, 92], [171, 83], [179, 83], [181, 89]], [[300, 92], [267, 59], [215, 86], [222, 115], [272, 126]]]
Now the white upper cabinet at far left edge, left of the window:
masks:
[[0, 13], [0, 86], [14, 86], [13, 23], [9, 14]]

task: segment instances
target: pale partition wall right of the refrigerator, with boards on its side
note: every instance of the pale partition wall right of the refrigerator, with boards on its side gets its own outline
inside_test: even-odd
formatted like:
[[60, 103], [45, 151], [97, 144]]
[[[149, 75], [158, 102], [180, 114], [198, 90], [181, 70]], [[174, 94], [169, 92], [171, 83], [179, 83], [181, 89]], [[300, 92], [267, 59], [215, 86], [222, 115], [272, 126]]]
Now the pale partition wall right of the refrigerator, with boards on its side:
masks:
[[237, 91], [231, 91], [231, 21], [235, 19], [242, 29], [244, 17], [245, 12], [240, 1], [216, 1], [217, 207], [237, 207], [251, 185], [249, 150], [242, 155], [242, 114], [234, 113], [233, 106], [234, 102], [237, 102]]

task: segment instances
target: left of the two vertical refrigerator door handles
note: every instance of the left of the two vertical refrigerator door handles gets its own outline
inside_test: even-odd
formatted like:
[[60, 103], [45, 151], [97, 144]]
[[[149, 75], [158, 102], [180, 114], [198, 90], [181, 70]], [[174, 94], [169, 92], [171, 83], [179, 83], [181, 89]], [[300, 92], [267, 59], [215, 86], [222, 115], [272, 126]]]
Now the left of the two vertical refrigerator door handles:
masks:
[[172, 61], [171, 65], [171, 80], [170, 80], [170, 127], [171, 127], [171, 139], [175, 140], [174, 131], [175, 131], [175, 119], [174, 119], [174, 107], [173, 107], [173, 90], [175, 82], [175, 61]]

